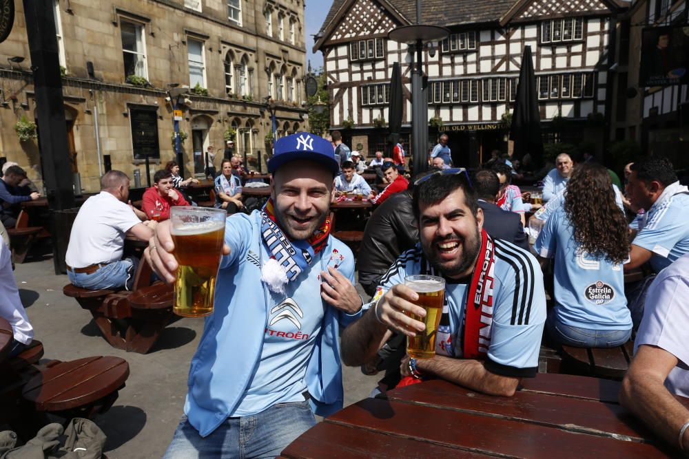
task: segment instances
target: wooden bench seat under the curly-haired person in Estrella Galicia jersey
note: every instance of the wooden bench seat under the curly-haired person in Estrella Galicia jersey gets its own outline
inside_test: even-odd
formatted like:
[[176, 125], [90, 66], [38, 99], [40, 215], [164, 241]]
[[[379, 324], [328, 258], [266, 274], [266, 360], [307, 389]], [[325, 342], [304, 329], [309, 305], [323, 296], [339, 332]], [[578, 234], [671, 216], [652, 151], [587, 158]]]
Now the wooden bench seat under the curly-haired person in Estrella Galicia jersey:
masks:
[[583, 376], [624, 378], [634, 354], [634, 343], [617, 348], [575, 348], [562, 346], [563, 362]]

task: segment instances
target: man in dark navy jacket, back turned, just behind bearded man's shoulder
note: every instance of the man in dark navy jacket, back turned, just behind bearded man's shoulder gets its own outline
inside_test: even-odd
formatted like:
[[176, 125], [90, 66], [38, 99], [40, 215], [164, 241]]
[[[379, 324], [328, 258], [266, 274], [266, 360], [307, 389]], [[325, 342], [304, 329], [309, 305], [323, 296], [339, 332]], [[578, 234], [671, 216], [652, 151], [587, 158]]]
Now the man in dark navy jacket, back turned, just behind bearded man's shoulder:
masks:
[[496, 239], [511, 242], [528, 252], [528, 237], [524, 233], [519, 214], [504, 211], [495, 204], [500, 193], [500, 180], [495, 172], [486, 169], [477, 171], [472, 183], [478, 198], [478, 206], [483, 211], [483, 228], [486, 233]]

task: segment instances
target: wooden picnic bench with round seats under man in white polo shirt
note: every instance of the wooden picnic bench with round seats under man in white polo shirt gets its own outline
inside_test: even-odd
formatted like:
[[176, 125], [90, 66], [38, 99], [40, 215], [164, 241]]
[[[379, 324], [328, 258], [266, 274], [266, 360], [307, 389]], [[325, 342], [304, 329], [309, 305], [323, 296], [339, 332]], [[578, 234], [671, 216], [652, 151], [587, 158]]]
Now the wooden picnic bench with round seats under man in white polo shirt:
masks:
[[[172, 321], [172, 286], [150, 284], [151, 268], [142, 261], [136, 271], [133, 292], [127, 290], [88, 290], [66, 285], [63, 294], [91, 312], [105, 341], [113, 348], [146, 354]], [[169, 290], [167, 303], [159, 301], [162, 290]], [[138, 301], [132, 299], [139, 298]], [[151, 301], [147, 301], [150, 299]]]

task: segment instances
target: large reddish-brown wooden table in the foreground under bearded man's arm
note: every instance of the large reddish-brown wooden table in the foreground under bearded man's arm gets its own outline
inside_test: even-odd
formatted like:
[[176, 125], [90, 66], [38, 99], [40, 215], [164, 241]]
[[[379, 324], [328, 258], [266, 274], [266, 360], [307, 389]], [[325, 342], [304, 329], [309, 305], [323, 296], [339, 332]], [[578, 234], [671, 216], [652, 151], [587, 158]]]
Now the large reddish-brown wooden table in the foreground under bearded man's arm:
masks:
[[507, 398], [426, 381], [329, 416], [282, 457], [676, 457], [619, 405], [619, 387], [616, 381], [538, 374]]

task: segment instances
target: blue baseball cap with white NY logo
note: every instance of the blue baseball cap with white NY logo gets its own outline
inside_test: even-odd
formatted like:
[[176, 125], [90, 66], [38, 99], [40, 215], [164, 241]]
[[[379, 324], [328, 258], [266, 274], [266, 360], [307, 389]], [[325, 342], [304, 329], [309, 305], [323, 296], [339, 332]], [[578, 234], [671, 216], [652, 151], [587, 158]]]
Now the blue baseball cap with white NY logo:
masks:
[[282, 164], [294, 160], [320, 162], [330, 169], [333, 176], [340, 169], [340, 164], [335, 160], [333, 145], [325, 138], [308, 132], [279, 138], [275, 142], [273, 158], [268, 161], [268, 172], [274, 173]]

